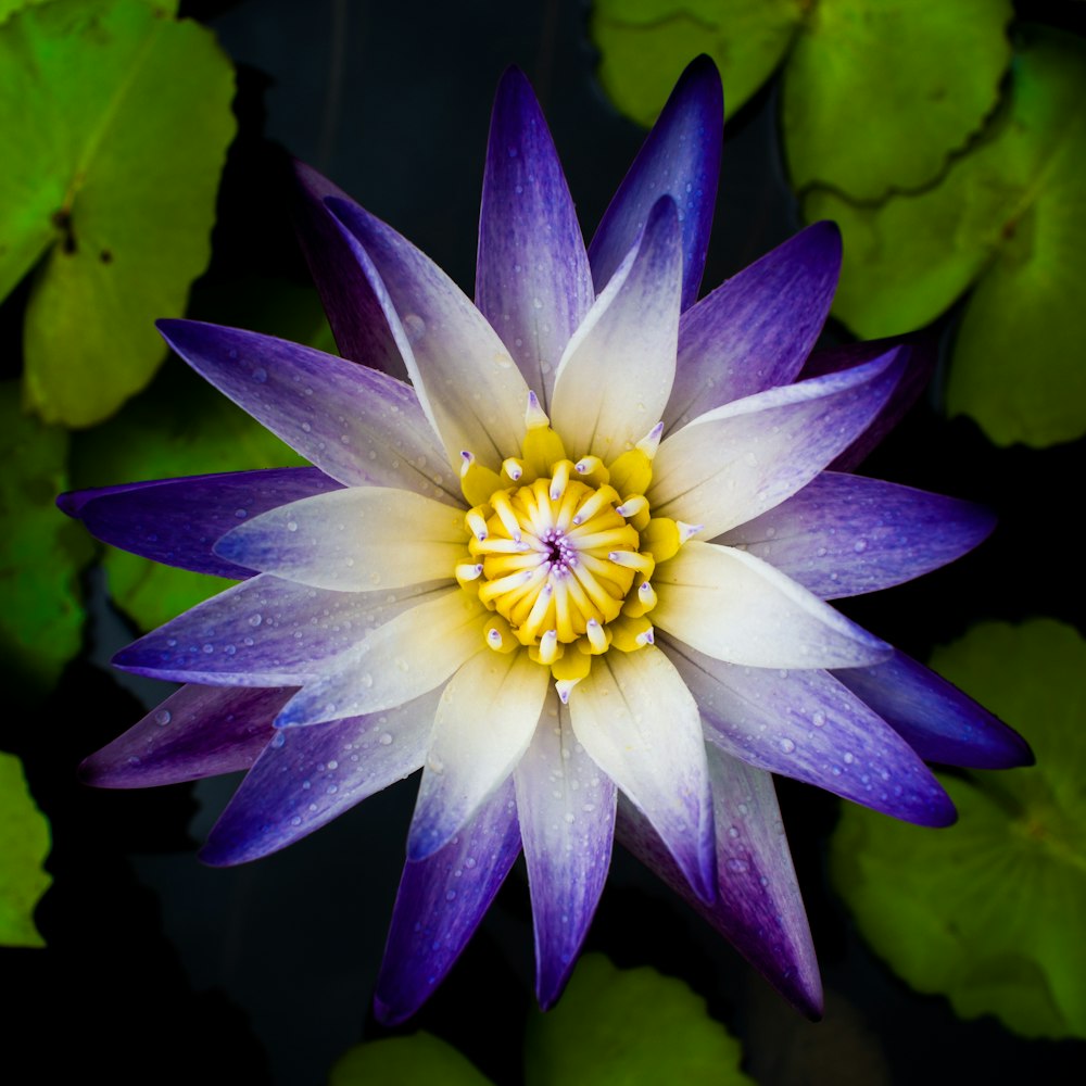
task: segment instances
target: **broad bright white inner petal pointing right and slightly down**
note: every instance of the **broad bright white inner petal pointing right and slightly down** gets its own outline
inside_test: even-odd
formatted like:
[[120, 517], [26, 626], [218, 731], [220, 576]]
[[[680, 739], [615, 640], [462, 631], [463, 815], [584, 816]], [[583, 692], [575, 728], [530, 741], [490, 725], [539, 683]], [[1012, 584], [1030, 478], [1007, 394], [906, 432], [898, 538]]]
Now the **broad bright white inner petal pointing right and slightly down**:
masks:
[[768, 563], [734, 547], [694, 540], [657, 567], [653, 584], [659, 597], [654, 624], [718, 660], [850, 668], [893, 652]]

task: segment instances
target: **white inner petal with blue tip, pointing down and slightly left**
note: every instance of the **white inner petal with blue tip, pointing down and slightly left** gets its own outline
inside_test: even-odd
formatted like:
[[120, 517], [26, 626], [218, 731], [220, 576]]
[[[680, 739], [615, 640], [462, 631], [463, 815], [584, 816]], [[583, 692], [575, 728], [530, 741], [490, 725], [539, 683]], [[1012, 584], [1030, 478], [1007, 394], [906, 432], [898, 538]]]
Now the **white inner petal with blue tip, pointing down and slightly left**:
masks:
[[535, 731], [548, 678], [526, 652], [485, 647], [453, 675], [433, 721], [408, 860], [447, 844], [508, 779]]

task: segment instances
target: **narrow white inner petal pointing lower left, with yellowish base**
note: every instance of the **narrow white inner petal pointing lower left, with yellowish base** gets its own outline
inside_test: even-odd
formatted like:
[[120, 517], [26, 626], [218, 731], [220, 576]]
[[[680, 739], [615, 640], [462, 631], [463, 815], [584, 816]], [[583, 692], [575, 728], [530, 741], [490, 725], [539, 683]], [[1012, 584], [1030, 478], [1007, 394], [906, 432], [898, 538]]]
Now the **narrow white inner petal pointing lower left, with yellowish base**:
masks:
[[279, 727], [361, 717], [443, 683], [482, 644], [479, 601], [459, 588], [397, 615], [329, 661], [276, 719]]

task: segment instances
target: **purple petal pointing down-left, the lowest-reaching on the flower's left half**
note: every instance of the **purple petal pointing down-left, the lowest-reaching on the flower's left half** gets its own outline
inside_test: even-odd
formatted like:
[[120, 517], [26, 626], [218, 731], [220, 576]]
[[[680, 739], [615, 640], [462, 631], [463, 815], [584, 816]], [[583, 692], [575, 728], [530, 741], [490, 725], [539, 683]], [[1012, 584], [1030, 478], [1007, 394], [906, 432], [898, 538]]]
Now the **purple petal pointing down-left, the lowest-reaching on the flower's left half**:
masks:
[[429, 859], [404, 864], [374, 1010], [395, 1025], [444, 980], [520, 854], [513, 782]]

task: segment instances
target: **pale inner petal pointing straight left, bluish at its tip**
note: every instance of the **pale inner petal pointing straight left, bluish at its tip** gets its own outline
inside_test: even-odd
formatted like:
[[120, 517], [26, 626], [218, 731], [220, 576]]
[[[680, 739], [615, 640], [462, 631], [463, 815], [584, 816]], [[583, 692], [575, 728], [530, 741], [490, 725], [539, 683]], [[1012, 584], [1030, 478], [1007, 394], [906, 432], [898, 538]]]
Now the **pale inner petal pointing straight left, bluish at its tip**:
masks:
[[253, 517], [223, 536], [215, 553], [317, 589], [372, 592], [451, 580], [467, 539], [460, 509], [406, 490], [362, 487]]

